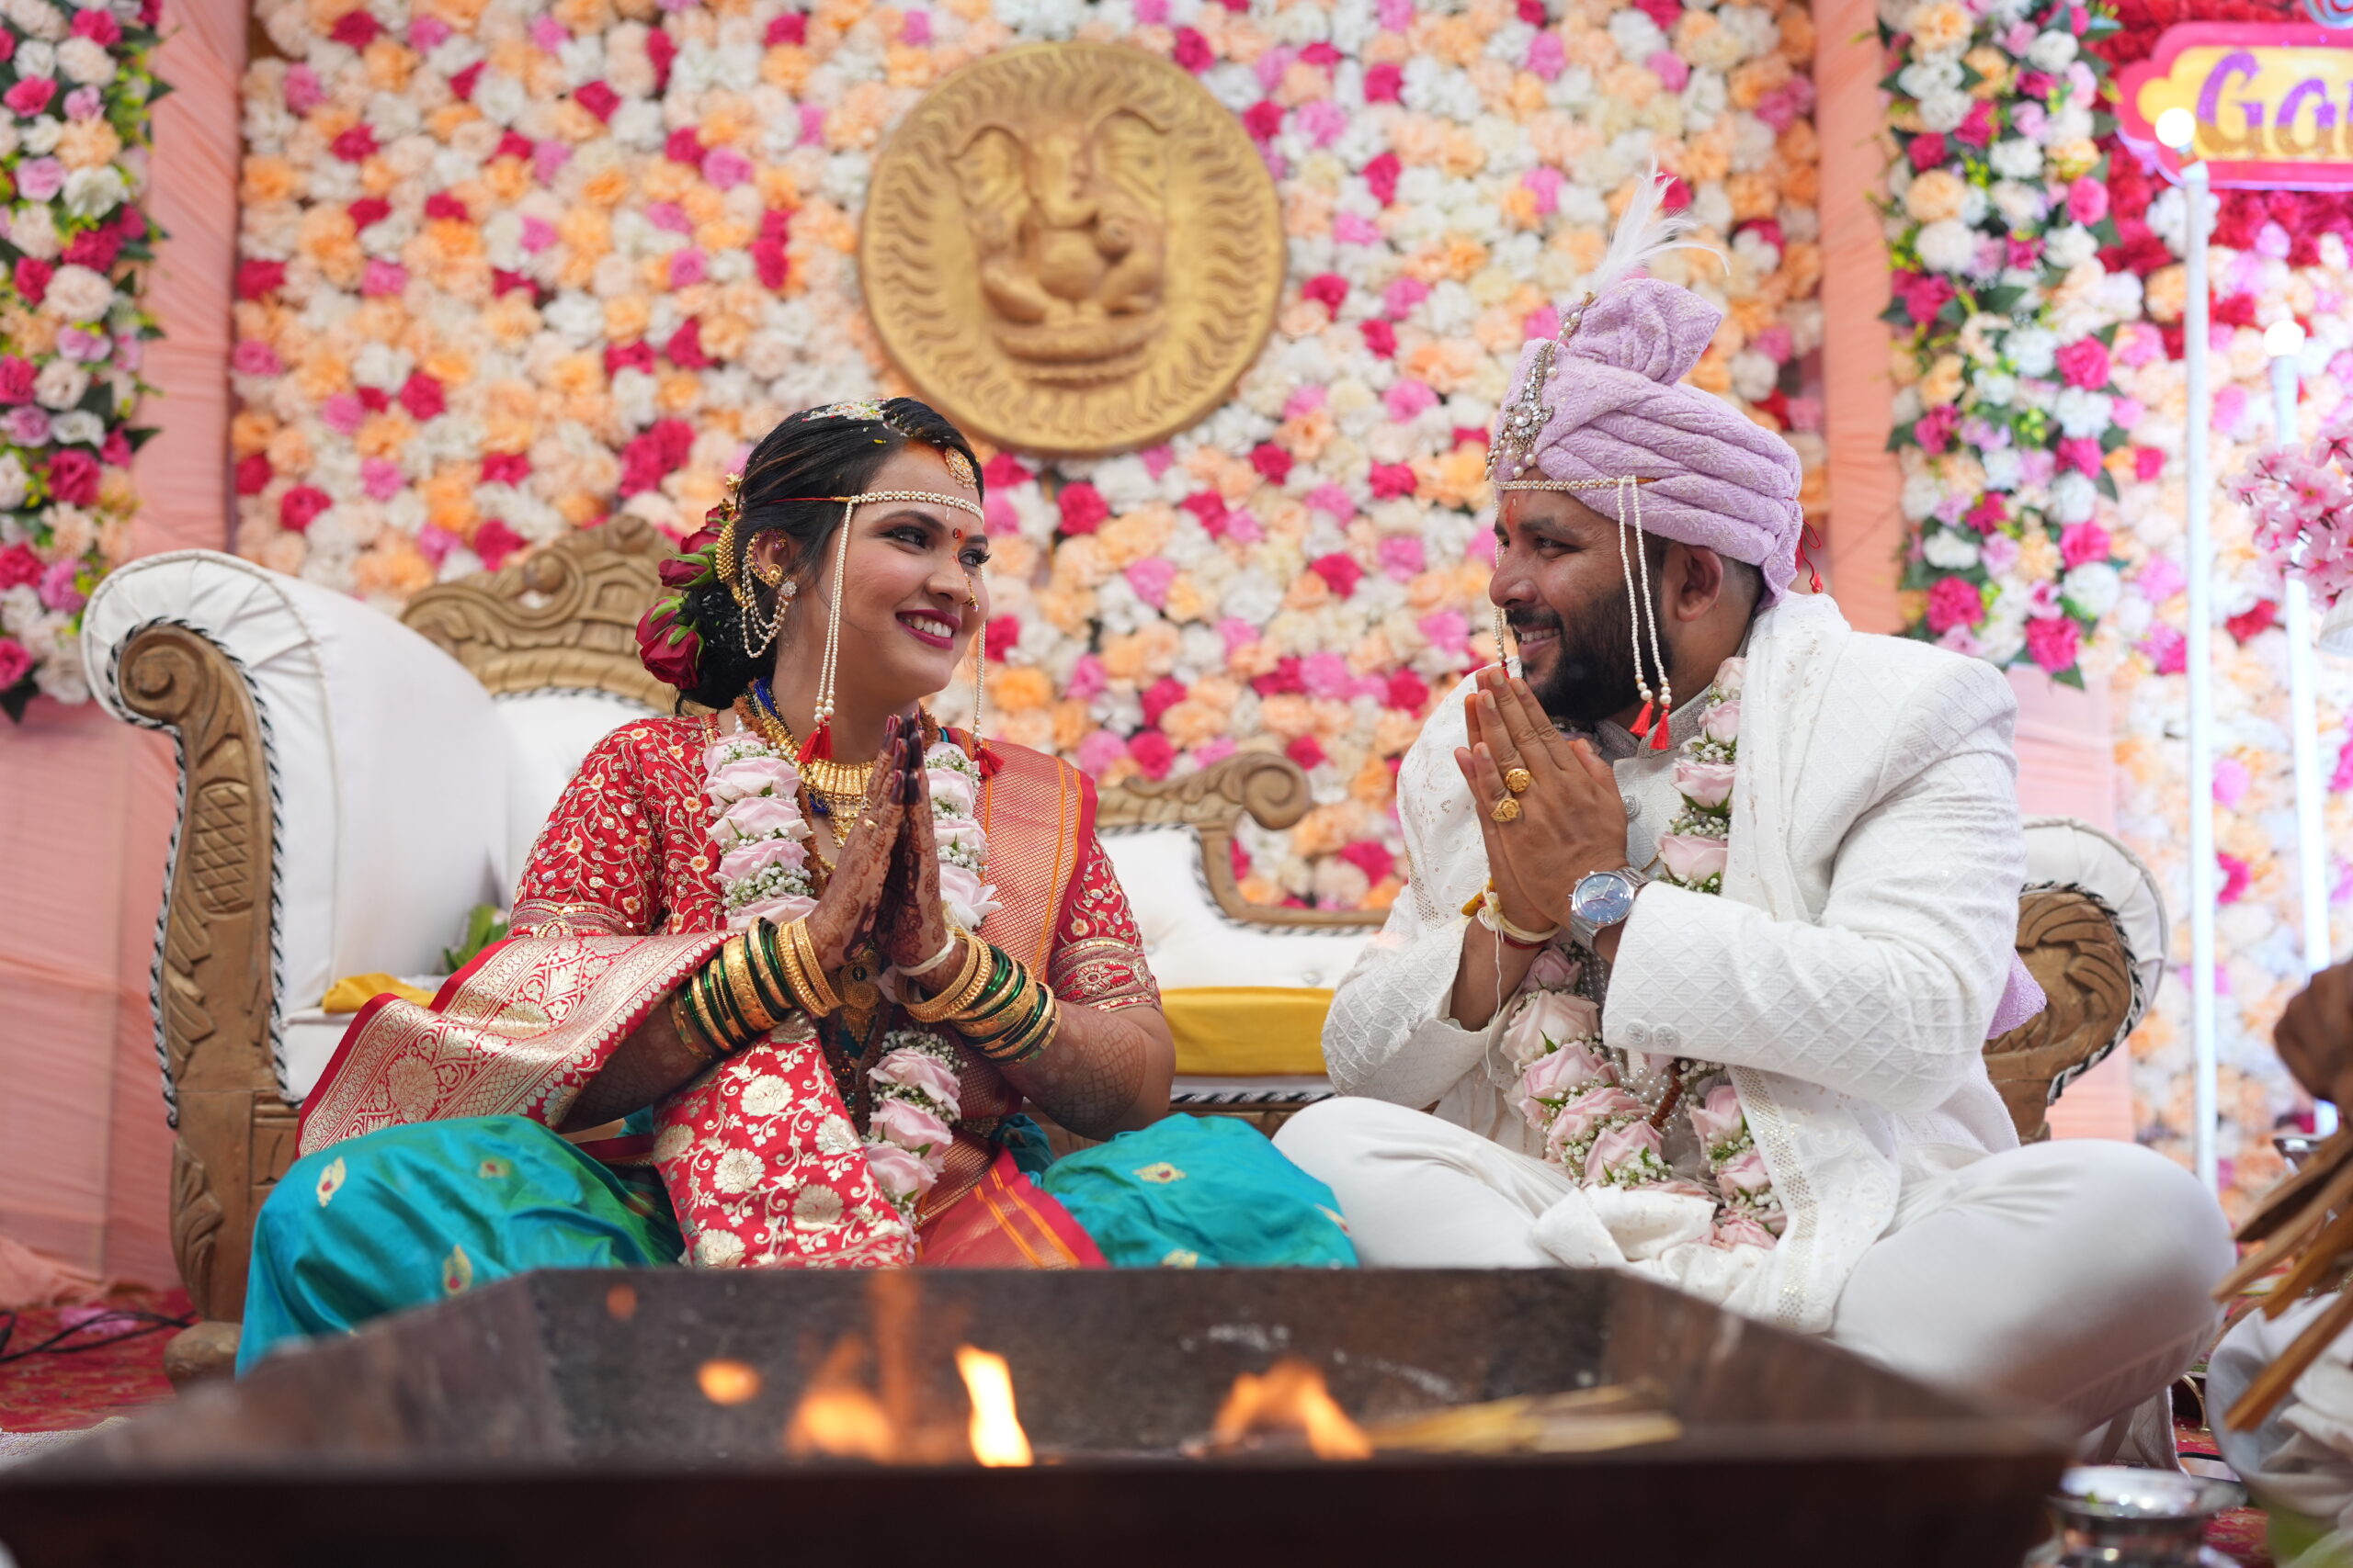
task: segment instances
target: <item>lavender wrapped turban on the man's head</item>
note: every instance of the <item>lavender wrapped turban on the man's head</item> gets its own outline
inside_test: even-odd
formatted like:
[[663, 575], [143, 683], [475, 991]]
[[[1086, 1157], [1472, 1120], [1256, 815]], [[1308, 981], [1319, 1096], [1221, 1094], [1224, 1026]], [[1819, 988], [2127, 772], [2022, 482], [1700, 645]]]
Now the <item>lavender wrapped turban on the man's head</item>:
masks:
[[[1758, 567], [1772, 604], [1798, 571], [1798, 454], [1722, 397], [1680, 386], [1722, 315], [1654, 277], [1602, 289], [1569, 315], [1558, 346], [1537, 339], [1520, 350], [1518, 390], [1497, 423], [1494, 477], [1506, 487], [1539, 470], [1551, 480], [1652, 480], [1642, 529]], [[1588, 503], [1617, 515], [1607, 494]]]

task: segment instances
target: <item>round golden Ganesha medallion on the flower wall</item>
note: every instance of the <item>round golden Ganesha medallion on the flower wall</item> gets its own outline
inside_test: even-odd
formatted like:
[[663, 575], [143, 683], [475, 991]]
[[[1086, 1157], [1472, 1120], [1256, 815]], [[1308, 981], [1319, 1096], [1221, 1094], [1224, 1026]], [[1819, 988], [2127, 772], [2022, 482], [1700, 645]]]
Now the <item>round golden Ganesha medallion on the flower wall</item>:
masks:
[[1282, 294], [1259, 150], [1176, 66], [1031, 45], [939, 82], [875, 160], [866, 308], [948, 416], [1005, 447], [1148, 447], [1217, 409]]

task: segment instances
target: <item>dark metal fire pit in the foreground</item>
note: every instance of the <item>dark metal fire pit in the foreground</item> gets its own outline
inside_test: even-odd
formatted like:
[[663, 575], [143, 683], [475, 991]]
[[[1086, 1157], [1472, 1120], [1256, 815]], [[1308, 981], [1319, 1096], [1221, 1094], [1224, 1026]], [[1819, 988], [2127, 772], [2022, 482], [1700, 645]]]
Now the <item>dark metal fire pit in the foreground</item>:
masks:
[[[784, 1455], [809, 1373], [908, 1326], [1012, 1363], [1033, 1469]], [[1647, 1378], [1682, 1436], [1598, 1455], [1181, 1458], [1238, 1373], [1304, 1356], [1358, 1420]], [[713, 1403], [713, 1359], [758, 1394]], [[736, 1375], [729, 1394], [751, 1380]], [[2012, 1568], [2057, 1432], [1595, 1272], [565, 1272], [264, 1366], [0, 1472], [59, 1563], [1981, 1563]]]

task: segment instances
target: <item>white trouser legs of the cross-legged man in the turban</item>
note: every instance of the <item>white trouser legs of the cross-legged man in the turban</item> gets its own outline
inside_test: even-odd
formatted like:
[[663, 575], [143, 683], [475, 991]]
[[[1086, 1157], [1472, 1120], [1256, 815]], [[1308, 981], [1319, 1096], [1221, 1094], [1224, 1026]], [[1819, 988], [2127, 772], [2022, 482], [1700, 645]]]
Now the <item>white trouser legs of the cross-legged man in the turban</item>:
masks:
[[[1532, 1232], [1569, 1194], [1567, 1173], [1452, 1121], [1325, 1100], [1275, 1145], [1332, 1187], [1372, 1267], [1555, 1262]], [[1831, 1338], [1922, 1382], [2087, 1429], [2198, 1359], [2231, 1255], [2221, 1208], [2162, 1154], [2108, 1140], [2005, 1150], [1906, 1180]]]

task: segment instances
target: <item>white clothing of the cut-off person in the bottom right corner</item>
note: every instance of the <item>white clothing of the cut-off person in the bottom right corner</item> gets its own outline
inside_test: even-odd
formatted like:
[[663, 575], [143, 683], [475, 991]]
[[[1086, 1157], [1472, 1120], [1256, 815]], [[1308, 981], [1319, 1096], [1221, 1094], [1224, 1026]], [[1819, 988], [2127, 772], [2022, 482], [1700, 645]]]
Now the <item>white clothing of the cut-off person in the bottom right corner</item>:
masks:
[[2346, 1563], [2353, 1561], [2353, 1333], [2322, 1349], [2259, 1427], [2224, 1427], [2257, 1373], [2334, 1305], [2334, 1295], [2320, 1295], [2278, 1319], [2249, 1312], [2233, 1324], [2207, 1359], [2207, 1418], [2221, 1458], [2259, 1502], [2334, 1530], [2311, 1561]]

